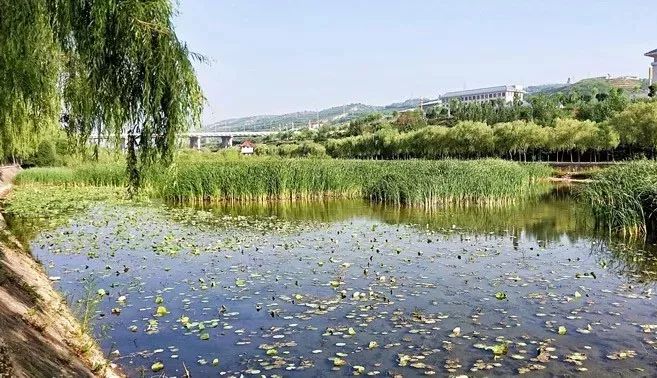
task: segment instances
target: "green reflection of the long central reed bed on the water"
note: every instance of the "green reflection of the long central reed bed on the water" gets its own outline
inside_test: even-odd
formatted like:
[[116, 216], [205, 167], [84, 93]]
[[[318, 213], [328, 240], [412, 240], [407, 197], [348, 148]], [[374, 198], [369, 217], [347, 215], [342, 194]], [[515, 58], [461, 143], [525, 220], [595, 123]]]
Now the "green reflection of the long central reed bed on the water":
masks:
[[564, 188], [514, 205], [447, 207], [431, 211], [354, 200], [219, 203], [205, 205], [202, 209], [217, 215], [276, 217], [286, 221], [330, 223], [366, 218], [388, 224], [414, 224], [434, 231], [523, 236], [542, 244], [563, 238], [575, 242], [594, 233], [588, 209], [574, 201]]

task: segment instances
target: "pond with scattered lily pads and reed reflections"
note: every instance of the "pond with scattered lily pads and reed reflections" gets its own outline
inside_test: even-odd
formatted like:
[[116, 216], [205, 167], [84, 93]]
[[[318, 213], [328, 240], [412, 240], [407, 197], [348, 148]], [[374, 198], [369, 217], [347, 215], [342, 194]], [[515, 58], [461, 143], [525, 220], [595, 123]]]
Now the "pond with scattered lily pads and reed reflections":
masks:
[[99, 202], [30, 247], [131, 376], [655, 376], [655, 255], [593, 230], [559, 192], [433, 212]]

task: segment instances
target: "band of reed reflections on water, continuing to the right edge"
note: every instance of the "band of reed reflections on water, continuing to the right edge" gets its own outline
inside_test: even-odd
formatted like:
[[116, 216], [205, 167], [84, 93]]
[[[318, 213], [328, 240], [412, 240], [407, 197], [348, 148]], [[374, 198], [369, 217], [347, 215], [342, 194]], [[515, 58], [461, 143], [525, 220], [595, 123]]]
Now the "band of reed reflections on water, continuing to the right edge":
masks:
[[373, 205], [366, 201], [219, 203], [197, 209], [215, 216], [277, 218], [288, 222], [342, 222], [369, 219], [386, 224], [411, 224], [443, 233], [509, 236], [514, 248], [520, 240], [539, 247], [579, 241], [590, 243], [601, 267], [633, 282], [657, 280], [657, 246], [650, 240], [624, 240], [596, 229], [589, 208], [573, 198], [571, 186], [532, 201], [500, 207], [448, 207], [433, 211]]

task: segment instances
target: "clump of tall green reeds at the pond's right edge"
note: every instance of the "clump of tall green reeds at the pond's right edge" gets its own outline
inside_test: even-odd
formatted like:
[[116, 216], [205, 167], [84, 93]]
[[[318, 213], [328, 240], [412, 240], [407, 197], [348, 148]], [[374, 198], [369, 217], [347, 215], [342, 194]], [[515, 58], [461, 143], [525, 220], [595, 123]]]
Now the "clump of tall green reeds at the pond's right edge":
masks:
[[601, 171], [580, 192], [599, 226], [646, 235], [657, 221], [657, 163], [638, 161]]

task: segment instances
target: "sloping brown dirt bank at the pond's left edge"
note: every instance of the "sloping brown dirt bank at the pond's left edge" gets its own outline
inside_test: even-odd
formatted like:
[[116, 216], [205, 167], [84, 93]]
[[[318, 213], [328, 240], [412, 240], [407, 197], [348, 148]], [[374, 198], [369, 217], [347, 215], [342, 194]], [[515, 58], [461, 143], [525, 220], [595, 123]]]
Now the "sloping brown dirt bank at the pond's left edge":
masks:
[[[0, 168], [0, 193], [10, 190], [16, 171]], [[4, 221], [0, 228], [0, 378], [121, 377], [81, 331], [43, 267]]]

